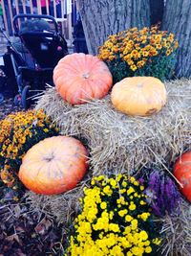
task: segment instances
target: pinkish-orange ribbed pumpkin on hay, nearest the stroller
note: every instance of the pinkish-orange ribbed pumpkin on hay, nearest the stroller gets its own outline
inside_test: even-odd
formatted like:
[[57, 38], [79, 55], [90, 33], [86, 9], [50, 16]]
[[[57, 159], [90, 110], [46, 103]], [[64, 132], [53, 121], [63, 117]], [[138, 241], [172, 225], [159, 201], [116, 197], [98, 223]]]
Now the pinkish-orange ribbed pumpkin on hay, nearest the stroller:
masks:
[[59, 60], [53, 70], [53, 82], [64, 101], [79, 105], [87, 100], [103, 98], [113, 80], [102, 60], [80, 53]]

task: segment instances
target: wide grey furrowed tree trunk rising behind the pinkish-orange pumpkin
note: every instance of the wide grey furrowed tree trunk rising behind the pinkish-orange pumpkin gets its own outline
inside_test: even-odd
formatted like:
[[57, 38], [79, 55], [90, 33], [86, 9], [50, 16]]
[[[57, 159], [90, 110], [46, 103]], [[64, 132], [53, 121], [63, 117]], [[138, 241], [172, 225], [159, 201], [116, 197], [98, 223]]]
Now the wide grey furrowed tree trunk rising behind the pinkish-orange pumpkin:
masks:
[[150, 26], [149, 0], [77, 0], [90, 54], [108, 35]]

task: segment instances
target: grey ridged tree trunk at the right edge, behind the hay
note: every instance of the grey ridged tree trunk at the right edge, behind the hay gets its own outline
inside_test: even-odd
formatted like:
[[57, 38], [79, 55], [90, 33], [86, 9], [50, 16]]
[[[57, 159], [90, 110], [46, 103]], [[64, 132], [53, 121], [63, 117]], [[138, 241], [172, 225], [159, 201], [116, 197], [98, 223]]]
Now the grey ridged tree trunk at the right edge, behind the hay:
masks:
[[179, 41], [176, 76], [191, 77], [191, 0], [167, 0], [162, 29]]

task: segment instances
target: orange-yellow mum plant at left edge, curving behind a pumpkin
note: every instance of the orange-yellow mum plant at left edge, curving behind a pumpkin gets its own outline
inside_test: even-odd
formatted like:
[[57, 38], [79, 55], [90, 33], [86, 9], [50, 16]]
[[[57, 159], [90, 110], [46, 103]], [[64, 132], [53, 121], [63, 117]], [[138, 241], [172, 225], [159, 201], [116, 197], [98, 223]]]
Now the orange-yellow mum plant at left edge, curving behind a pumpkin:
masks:
[[16, 112], [0, 121], [1, 179], [11, 186], [12, 173], [19, 168], [23, 155], [41, 139], [57, 134], [51, 119], [39, 110]]

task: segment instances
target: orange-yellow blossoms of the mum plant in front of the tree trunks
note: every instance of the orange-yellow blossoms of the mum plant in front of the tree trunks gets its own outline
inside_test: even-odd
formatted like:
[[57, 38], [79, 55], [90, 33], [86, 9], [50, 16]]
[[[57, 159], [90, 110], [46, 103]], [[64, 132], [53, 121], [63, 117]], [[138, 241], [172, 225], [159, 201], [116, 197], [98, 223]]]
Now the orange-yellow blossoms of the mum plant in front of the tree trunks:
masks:
[[98, 58], [110, 62], [124, 60], [132, 71], [143, 67], [156, 56], [169, 56], [179, 46], [173, 34], [159, 31], [158, 27], [132, 28], [117, 35], [109, 35], [108, 40], [99, 47]]

